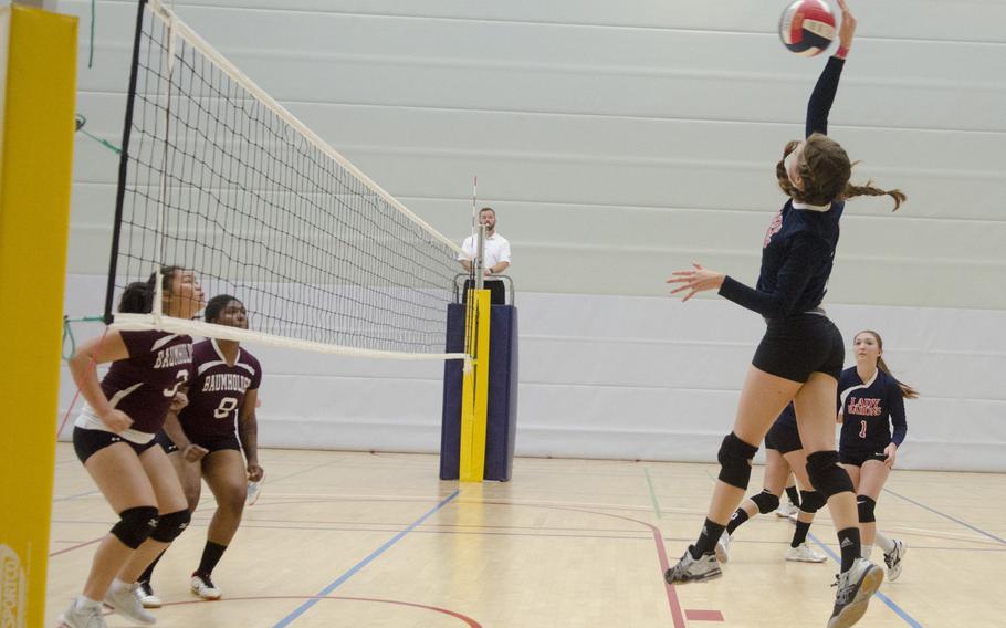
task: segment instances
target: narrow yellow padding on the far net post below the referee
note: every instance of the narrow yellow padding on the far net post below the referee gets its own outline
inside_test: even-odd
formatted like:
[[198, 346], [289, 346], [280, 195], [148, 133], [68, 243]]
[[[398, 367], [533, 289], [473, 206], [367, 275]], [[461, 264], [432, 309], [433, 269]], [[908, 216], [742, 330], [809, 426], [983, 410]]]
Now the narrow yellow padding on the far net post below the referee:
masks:
[[473, 326], [465, 333], [473, 356], [472, 368], [464, 374], [461, 394], [461, 463], [462, 482], [481, 482], [485, 473], [485, 420], [489, 411], [489, 321], [490, 291], [470, 290], [468, 302], [473, 304]]

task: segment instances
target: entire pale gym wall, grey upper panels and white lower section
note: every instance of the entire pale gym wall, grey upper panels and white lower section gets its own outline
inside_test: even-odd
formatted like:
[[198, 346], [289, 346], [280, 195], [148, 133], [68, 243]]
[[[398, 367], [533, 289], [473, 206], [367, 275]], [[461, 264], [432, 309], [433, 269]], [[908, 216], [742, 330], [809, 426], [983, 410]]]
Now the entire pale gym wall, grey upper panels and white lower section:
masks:
[[[384, 188], [453, 239], [470, 185], [513, 244], [517, 449], [711, 460], [762, 329], [663, 280], [698, 259], [753, 281], [773, 178], [824, 60], [777, 41], [764, 0], [177, 0], [179, 15]], [[82, 17], [78, 112], [119, 144], [136, 3]], [[1006, 3], [884, 0], [860, 27], [831, 133], [856, 179], [828, 305], [877, 327], [909, 404], [916, 468], [1003, 470]], [[895, 17], [897, 19], [892, 19]], [[77, 136], [67, 313], [95, 314], [118, 158]], [[568, 294], [564, 294], [568, 293]], [[440, 366], [262, 349], [270, 444], [432, 451]], [[387, 395], [394, 390], [395, 395]], [[69, 388], [64, 395], [69, 401]]]

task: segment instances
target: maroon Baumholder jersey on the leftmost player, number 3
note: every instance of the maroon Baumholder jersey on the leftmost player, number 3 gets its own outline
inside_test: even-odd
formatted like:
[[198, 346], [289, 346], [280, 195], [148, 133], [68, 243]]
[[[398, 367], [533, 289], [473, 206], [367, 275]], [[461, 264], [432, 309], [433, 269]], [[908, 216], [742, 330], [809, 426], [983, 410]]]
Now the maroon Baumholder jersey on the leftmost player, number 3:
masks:
[[112, 363], [102, 390], [132, 429], [157, 433], [179, 388], [192, 378], [192, 338], [168, 332], [122, 332], [129, 357]]

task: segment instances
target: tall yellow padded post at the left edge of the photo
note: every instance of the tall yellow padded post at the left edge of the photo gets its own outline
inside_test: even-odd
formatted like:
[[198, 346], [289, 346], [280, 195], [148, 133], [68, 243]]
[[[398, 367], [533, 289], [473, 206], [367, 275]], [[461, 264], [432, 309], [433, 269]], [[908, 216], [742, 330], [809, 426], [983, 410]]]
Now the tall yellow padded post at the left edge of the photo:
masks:
[[41, 627], [73, 170], [77, 20], [0, 9], [0, 626]]

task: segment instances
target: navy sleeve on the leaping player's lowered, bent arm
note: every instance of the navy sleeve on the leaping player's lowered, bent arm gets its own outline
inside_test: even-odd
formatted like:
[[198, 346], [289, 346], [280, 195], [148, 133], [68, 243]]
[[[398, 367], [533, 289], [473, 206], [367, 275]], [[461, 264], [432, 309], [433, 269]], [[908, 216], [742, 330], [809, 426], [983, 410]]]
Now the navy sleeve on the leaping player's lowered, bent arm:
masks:
[[788, 316], [820, 265], [821, 253], [827, 248], [821, 238], [800, 233], [793, 240], [774, 292], [762, 292], [725, 276], [720, 294], [766, 318]]

